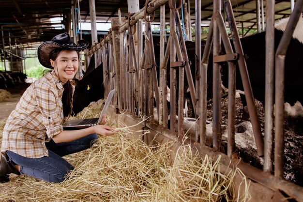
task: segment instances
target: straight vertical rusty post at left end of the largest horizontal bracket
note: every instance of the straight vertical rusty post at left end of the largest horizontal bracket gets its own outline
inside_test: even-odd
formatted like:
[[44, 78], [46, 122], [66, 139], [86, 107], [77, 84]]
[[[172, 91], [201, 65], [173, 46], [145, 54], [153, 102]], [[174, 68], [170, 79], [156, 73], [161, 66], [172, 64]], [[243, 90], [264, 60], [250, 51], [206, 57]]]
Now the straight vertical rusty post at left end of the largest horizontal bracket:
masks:
[[[221, 53], [221, 36], [217, 26], [216, 12], [221, 11], [221, 0], [213, 1], [213, 57]], [[221, 65], [213, 62], [212, 75], [212, 148], [220, 151], [221, 147]]]

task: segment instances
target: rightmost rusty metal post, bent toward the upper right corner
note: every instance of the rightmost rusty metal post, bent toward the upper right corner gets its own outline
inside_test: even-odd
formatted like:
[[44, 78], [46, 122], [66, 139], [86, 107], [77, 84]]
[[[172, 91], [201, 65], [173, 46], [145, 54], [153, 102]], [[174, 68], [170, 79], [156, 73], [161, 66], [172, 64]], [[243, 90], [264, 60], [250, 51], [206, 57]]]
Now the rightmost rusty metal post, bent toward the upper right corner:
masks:
[[274, 175], [279, 178], [283, 178], [285, 56], [293, 31], [302, 12], [303, 0], [298, 0], [275, 53]]

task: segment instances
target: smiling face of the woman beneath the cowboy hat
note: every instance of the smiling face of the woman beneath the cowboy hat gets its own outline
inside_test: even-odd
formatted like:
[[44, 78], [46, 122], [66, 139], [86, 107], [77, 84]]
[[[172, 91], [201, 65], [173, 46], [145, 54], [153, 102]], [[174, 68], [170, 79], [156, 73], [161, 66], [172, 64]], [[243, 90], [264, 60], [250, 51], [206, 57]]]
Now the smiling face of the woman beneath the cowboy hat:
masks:
[[69, 79], [73, 79], [78, 71], [78, 54], [76, 50], [62, 50], [57, 59], [50, 60], [50, 63], [61, 82], [66, 83]]

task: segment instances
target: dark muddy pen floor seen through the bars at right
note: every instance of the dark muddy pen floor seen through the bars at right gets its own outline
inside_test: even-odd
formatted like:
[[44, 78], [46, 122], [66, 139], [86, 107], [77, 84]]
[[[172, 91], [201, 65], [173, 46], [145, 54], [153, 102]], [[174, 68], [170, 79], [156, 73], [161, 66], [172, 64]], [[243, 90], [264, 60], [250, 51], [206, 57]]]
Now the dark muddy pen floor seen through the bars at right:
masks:
[[[212, 106], [208, 105], [208, 120], [212, 121]], [[227, 96], [222, 97], [222, 124], [227, 124]], [[256, 100], [258, 117], [262, 135], [264, 136], [264, 108], [262, 103]], [[246, 109], [246, 108], [245, 108]], [[249, 163], [259, 169], [263, 169], [263, 158], [258, 157], [252, 126], [249, 122], [247, 109], [243, 109], [240, 97], [236, 98], [236, 151], [244, 162]], [[296, 185], [303, 186], [303, 107], [290, 107], [285, 105], [285, 149], [284, 149], [284, 177]], [[274, 133], [273, 133], [274, 134]], [[237, 141], [238, 139], [238, 141]], [[223, 142], [226, 143], [226, 142]], [[274, 137], [273, 137], [274, 147]], [[272, 156], [272, 160], [273, 160]], [[274, 164], [274, 163], [273, 163]], [[274, 170], [274, 165], [273, 165]]]

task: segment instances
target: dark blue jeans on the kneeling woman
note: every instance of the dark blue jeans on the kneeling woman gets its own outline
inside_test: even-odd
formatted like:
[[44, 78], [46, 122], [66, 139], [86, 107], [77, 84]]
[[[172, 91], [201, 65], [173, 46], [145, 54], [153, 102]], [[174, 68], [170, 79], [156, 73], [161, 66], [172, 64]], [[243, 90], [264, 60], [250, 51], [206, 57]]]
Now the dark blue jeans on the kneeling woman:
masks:
[[15, 164], [20, 165], [21, 174], [47, 182], [60, 183], [69, 171], [74, 170], [74, 167], [61, 156], [88, 149], [97, 139], [98, 135], [93, 133], [78, 140], [59, 144], [50, 140], [50, 142], [45, 143], [48, 156], [41, 158], [27, 158], [11, 151], [6, 151], [6, 153]]

